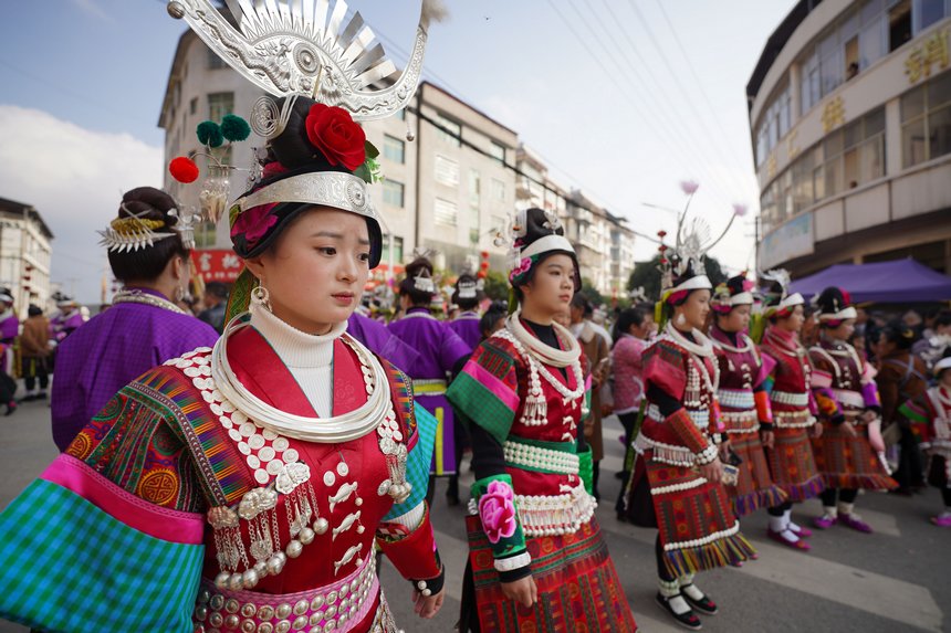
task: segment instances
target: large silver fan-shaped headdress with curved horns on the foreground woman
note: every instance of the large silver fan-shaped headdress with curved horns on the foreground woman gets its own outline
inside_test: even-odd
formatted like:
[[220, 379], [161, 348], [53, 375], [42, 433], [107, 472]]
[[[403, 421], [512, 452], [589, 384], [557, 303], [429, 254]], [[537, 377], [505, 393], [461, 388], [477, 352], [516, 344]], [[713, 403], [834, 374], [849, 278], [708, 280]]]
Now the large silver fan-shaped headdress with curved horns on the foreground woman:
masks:
[[[306, 96], [349, 110], [356, 120], [385, 118], [416, 92], [429, 23], [445, 15], [438, 0], [424, 0], [406, 67], [396, 66], [359, 12], [344, 24], [347, 4], [337, 0], [226, 0], [232, 25], [211, 0], [171, 0], [168, 13], [184, 19], [211, 50], [275, 97]], [[276, 114], [276, 113], [275, 113]]]

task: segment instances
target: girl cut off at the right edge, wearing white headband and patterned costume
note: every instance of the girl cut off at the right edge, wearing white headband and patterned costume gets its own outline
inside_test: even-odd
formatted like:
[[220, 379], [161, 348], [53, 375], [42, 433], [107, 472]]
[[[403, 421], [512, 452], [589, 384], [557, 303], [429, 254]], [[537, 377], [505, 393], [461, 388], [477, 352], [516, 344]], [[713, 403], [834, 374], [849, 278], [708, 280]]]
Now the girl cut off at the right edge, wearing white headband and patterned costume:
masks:
[[906, 402], [900, 414], [915, 426], [928, 453], [928, 483], [941, 490], [944, 509], [931, 523], [951, 527], [951, 346], [938, 356], [932, 371], [938, 383]]

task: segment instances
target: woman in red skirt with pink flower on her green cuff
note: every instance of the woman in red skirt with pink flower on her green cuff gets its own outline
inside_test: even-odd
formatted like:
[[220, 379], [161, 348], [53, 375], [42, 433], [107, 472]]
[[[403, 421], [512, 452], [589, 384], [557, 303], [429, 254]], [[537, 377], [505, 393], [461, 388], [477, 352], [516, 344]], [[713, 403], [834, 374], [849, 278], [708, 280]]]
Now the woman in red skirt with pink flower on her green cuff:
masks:
[[553, 321], [579, 287], [556, 217], [520, 213], [509, 279], [520, 309], [447, 393], [472, 440], [462, 631], [635, 631], [594, 519], [585, 359]]

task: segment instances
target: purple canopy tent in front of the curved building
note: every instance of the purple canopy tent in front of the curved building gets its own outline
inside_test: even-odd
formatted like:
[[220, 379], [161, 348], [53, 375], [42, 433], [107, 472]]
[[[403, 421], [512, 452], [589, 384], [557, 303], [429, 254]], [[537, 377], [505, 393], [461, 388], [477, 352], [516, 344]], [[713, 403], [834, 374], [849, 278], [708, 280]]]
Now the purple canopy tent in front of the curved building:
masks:
[[790, 292], [809, 297], [828, 286], [839, 286], [863, 303], [920, 303], [951, 299], [951, 277], [912, 259], [872, 264], [836, 264], [796, 279]]

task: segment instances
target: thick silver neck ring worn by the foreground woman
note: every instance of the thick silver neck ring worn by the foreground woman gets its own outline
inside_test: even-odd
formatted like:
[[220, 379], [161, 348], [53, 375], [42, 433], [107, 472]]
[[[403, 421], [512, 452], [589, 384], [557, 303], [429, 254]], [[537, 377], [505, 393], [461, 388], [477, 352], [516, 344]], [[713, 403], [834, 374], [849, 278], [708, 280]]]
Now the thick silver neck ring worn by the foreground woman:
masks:
[[359, 359], [367, 388], [366, 403], [342, 415], [309, 418], [281, 411], [263, 402], [241, 384], [228, 362], [228, 338], [248, 326], [247, 319], [234, 318], [224, 328], [224, 333], [211, 351], [211, 376], [224, 398], [264, 429], [295, 440], [333, 444], [363, 437], [375, 430], [386, 415], [390, 404], [390, 393], [389, 381], [385, 377], [383, 366], [363, 345], [349, 336], [343, 337], [342, 340], [356, 352]]

